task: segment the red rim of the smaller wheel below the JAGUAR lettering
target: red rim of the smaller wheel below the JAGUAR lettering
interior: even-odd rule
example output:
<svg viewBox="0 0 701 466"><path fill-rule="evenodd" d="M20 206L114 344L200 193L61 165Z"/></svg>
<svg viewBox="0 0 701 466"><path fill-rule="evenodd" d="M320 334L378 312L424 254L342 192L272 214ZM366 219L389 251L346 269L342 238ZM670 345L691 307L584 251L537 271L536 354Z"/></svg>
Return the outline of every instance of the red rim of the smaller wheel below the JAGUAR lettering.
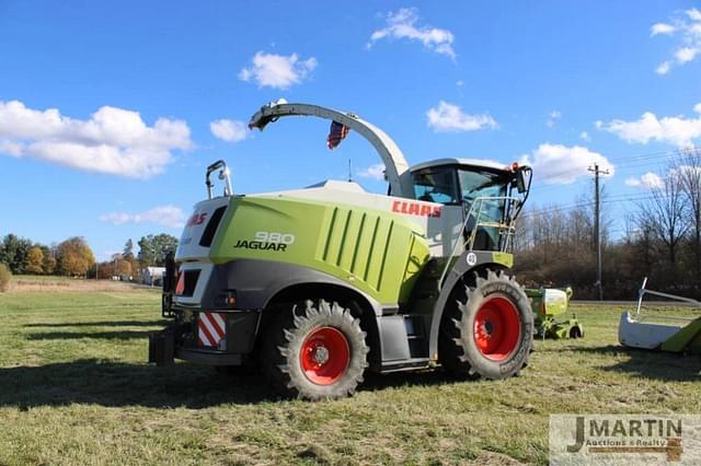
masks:
<svg viewBox="0 0 701 466"><path fill-rule="evenodd" d="M302 342L299 359L307 378L317 385L331 385L350 363L348 340L336 328L317 328Z"/></svg>

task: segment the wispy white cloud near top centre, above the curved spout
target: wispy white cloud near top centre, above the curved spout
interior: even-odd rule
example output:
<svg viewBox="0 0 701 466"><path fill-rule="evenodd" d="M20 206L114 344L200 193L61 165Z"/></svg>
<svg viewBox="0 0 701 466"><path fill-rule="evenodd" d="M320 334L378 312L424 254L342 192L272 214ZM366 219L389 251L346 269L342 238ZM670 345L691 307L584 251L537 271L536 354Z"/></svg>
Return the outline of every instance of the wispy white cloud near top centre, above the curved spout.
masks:
<svg viewBox="0 0 701 466"><path fill-rule="evenodd" d="M416 8L402 8L395 13L387 14L387 24L383 28L375 31L370 36L368 48L383 38L418 40L424 47L436 54L447 55L455 59L452 49L453 34L448 30L430 26L418 26L418 10Z"/></svg>

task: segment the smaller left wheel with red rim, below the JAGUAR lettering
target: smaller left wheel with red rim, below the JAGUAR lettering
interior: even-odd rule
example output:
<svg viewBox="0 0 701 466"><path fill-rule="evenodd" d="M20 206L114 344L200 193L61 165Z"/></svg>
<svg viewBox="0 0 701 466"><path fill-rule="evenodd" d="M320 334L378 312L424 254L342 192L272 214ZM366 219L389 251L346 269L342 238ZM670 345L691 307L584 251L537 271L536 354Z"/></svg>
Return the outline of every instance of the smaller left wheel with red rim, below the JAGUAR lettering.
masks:
<svg viewBox="0 0 701 466"><path fill-rule="evenodd" d="M261 351L261 369L275 391L310 400L353 395L368 365L360 321L321 299L280 311Z"/></svg>

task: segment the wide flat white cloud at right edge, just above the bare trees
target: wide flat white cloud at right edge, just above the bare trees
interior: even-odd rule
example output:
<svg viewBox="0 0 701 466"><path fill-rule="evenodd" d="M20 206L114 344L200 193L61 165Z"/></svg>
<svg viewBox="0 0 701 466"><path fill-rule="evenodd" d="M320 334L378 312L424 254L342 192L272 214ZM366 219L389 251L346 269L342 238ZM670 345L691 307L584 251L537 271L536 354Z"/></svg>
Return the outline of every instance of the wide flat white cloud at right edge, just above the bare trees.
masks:
<svg viewBox="0 0 701 466"><path fill-rule="evenodd" d="M693 109L701 113L701 104L697 104ZM650 141L658 141L683 148L691 145L694 139L701 138L701 116L657 118L654 113L645 112L635 121L621 119L614 119L608 124L599 121L597 128L612 132L628 142L646 144Z"/></svg>

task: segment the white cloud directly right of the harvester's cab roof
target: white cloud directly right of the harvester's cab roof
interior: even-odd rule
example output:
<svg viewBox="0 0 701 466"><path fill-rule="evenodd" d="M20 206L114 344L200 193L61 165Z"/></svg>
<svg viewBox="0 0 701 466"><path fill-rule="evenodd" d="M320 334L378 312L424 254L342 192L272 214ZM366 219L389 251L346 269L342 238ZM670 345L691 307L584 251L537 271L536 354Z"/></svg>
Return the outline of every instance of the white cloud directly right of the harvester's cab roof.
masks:
<svg viewBox="0 0 701 466"><path fill-rule="evenodd" d="M533 175L545 184L571 184L587 175L589 167L599 165L599 170L614 173L613 165L604 155L579 145L543 143L525 154L521 163L533 168Z"/></svg>

